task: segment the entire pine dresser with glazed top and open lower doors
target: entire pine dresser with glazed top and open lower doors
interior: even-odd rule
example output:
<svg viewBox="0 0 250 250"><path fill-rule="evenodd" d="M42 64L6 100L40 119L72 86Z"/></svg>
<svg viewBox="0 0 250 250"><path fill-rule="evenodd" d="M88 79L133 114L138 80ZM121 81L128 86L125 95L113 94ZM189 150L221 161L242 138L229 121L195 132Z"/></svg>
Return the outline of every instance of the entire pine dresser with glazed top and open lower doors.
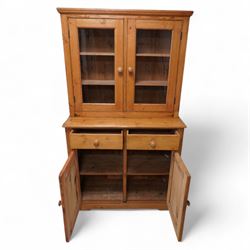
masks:
<svg viewBox="0 0 250 250"><path fill-rule="evenodd" d="M179 118L192 11L58 8L70 116L59 181L66 241L80 210L166 209L182 239L190 174Z"/></svg>

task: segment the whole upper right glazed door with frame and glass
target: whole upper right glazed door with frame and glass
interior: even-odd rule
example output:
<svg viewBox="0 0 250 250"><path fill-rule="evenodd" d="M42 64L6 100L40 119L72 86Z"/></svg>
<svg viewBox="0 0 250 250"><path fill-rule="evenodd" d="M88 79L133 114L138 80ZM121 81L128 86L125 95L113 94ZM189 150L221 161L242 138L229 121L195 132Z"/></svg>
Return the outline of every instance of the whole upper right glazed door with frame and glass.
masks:
<svg viewBox="0 0 250 250"><path fill-rule="evenodd" d="M181 27L178 21L128 21L129 111L173 111Z"/></svg>

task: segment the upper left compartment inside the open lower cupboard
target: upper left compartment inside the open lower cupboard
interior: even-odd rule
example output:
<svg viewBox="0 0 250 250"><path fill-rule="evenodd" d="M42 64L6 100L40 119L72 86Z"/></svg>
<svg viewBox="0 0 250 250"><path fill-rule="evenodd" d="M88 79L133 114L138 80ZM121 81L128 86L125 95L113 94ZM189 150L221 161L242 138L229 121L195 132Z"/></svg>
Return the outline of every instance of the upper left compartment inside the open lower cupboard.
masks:
<svg viewBox="0 0 250 250"><path fill-rule="evenodd" d="M79 151L80 175L122 175L122 152L114 150Z"/></svg>

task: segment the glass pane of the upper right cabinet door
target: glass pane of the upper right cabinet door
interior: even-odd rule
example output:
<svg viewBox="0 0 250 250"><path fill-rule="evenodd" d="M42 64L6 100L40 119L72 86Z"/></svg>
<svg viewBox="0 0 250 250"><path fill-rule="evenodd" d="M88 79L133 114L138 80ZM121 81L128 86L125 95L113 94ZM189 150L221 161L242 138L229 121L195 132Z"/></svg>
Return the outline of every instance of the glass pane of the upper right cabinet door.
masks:
<svg viewBox="0 0 250 250"><path fill-rule="evenodd" d="M137 30L135 103L165 104L171 48L170 30Z"/></svg>

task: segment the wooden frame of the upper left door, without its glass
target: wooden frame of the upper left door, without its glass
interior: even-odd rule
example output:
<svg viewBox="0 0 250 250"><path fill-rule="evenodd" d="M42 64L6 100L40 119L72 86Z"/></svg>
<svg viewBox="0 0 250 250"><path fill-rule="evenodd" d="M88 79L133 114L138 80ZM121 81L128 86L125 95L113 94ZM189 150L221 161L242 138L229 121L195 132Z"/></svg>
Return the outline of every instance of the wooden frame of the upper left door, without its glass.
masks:
<svg viewBox="0 0 250 250"><path fill-rule="evenodd" d="M70 53L72 67L73 92L75 101L75 112L86 111L122 111L123 110L123 75L119 74L118 67L123 65L123 22L121 19L103 19L103 18L70 18L69 33L70 33ZM81 80L81 65L80 65L80 49L78 28L98 28L98 29L114 29L115 39L115 103L83 103L82 97L82 80Z"/></svg>

